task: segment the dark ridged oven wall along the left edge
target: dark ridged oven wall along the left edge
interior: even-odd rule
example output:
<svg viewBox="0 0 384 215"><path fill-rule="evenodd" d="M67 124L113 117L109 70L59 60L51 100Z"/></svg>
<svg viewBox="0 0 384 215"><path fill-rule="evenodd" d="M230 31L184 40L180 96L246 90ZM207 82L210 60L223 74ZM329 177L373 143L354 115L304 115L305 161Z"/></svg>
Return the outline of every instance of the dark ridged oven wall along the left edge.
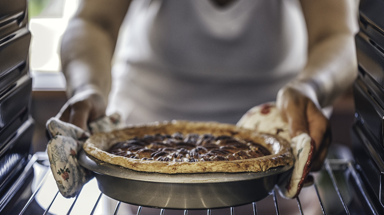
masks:
<svg viewBox="0 0 384 215"><path fill-rule="evenodd" d="M0 214L32 154L32 78L26 0L0 0Z"/></svg>

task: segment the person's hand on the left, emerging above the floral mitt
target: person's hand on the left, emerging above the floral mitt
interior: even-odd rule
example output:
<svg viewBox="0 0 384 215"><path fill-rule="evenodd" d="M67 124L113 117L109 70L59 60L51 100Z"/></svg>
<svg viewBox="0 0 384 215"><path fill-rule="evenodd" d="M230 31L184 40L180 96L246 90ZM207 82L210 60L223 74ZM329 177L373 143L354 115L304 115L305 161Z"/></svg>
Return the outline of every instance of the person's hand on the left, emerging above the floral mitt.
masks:
<svg viewBox="0 0 384 215"><path fill-rule="evenodd" d="M87 124L105 115L106 99L95 89L87 89L70 98L56 115L64 122L87 130Z"/></svg>

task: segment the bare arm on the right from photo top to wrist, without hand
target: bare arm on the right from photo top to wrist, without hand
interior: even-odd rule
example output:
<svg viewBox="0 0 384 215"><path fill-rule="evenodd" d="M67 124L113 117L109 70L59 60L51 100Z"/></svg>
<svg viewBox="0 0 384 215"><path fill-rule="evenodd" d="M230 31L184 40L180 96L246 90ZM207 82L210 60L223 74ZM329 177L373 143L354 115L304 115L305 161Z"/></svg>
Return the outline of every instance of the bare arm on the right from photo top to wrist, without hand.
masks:
<svg viewBox="0 0 384 215"><path fill-rule="evenodd" d="M300 2L308 31L308 59L289 85L325 107L351 86L357 75L356 5L351 0Z"/></svg>

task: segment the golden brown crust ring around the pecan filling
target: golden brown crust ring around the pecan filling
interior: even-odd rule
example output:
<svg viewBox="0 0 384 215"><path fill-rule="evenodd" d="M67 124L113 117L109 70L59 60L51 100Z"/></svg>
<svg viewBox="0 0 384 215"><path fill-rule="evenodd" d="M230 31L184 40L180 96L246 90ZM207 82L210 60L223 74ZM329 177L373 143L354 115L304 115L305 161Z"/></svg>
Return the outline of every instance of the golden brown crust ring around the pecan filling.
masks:
<svg viewBox="0 0 384 215"><path fill-rule="evenodd" d="M147 161L126 158L107 153L113 144L145 134L213 134L230 135L241 139L254 140L267 148L271 155L236 161ZM98 160L120 165L128 169L159 173L201 173L201 172L260 172L272 167L291 165L293 159L289 144L284 139L271 135L259 134L251 130L238 128L231 124L217 122L171 121L130 126L110 133L92 135L83 146L84 150Z"/></svg>

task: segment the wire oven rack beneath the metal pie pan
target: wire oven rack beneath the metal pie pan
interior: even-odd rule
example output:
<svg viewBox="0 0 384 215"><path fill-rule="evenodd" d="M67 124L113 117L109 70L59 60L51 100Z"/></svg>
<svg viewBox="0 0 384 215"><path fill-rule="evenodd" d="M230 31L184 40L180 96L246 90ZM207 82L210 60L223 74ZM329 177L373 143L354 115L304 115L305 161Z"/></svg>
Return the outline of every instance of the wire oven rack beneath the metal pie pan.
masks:
<svg viewBox="0 0 384 215"><path fill-rule="evenodd" d="M66 199L56 187L45 153L36 153L32 156L25 174L28 168L32 168L34 172L31 193L26 198L26 203L20 207L20 211L15 213L19 215L286 215L291 212L299 215L362 215L381 214L383 210L382 207L376 206L375 198L368 194L358 173L358 167L356 168L353 161L346 159L327 159L324 168L312 175L314 183L303 188L295 199L284 199L273 190L260 202L226 209L198 211L131 206L105 196L97 188L96 179L88 182L79 195ZM22 180L19 183L23 183Z"/></svg>

